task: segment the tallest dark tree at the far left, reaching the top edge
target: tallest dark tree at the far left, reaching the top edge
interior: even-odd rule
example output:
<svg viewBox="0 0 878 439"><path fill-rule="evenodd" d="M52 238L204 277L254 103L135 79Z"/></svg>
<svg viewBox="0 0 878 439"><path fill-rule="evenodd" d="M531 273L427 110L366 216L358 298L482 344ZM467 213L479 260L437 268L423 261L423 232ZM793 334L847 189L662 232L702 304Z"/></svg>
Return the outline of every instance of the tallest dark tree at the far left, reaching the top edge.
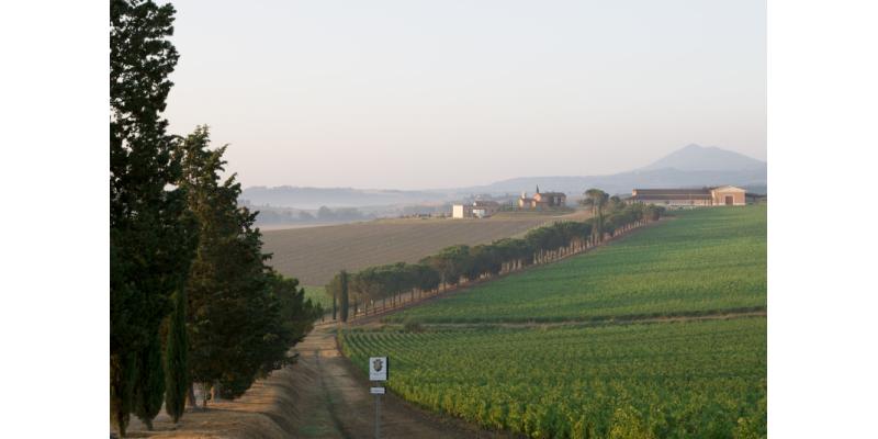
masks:
<svg viewBox="0 0 878 439"><path fill-rule="evenodd" d="M173 13L153 1L110 2L110 419L120 436L135 387L151 381L138 380L137 363L155 358L192 257L182 194L168 190L180 167L161 117L178 59L167 40ZM137 390L151 401L150 391Z"/></svg>

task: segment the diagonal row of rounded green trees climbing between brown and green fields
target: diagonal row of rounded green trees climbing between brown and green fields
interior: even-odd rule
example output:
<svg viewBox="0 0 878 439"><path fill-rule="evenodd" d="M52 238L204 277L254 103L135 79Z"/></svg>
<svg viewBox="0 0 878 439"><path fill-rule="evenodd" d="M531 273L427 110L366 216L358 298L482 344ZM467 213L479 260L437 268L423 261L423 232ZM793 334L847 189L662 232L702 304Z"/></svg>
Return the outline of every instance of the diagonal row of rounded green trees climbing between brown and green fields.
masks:
<svg viewBox="0 0 878 439"><path fill-rule="evenodd" d="M599 189L586 191L582 203L593 211L593 216L582 222L556 222L531 229L522 238L447 247L418 263L396 262L356 273L342 270L326 284L326 293L333 297L333 318L347 322L351 313L368 315L378 312L378 306L386 306L387 301L393 307L404 294L414 300L416 294L431 294L440 289L551 262L664 214L664 207L628 204Z"/></svg>

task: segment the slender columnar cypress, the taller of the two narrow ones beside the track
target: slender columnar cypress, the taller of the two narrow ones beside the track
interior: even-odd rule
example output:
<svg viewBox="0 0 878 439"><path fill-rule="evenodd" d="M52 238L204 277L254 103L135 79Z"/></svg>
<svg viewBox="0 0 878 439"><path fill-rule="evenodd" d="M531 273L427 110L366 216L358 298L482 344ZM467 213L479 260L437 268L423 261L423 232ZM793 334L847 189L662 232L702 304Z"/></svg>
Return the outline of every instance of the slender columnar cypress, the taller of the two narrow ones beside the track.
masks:
<svg viewBox="0 0 878 439"><path fill-rule="evenodd" d="M168 322L168 339L165 347L165 412L176 424L183 416L190 382L185 290L178 290L173 299L173 314Z"/></svg>

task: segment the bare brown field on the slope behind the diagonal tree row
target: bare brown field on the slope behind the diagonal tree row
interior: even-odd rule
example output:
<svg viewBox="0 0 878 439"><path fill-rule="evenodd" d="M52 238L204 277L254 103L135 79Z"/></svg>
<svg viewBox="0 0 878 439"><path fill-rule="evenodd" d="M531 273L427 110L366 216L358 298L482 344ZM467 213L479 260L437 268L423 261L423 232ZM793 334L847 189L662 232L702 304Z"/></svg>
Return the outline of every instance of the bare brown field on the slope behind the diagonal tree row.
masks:
<svg viewBox="0 0 878 439"><path fill-rule="evenodd" d="M304 285L324 285L339 270L358 271L391 262L416 262L444 247L485 244L516 236L567 215L498 214L486 219L381 219L296 229L264 230L269 263Z"/></svg>

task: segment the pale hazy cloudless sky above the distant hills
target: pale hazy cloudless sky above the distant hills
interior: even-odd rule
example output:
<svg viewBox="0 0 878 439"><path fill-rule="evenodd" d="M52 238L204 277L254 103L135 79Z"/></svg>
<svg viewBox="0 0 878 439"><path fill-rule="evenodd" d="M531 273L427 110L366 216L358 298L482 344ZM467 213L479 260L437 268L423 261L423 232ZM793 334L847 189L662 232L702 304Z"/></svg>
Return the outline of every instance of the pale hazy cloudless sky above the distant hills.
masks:
<svg viewBox="0 0 878 439"><path fill-rule="evenodd" d="M766 157L765 1L178 0L167 116L248 185L448 188Z"/></svg>

